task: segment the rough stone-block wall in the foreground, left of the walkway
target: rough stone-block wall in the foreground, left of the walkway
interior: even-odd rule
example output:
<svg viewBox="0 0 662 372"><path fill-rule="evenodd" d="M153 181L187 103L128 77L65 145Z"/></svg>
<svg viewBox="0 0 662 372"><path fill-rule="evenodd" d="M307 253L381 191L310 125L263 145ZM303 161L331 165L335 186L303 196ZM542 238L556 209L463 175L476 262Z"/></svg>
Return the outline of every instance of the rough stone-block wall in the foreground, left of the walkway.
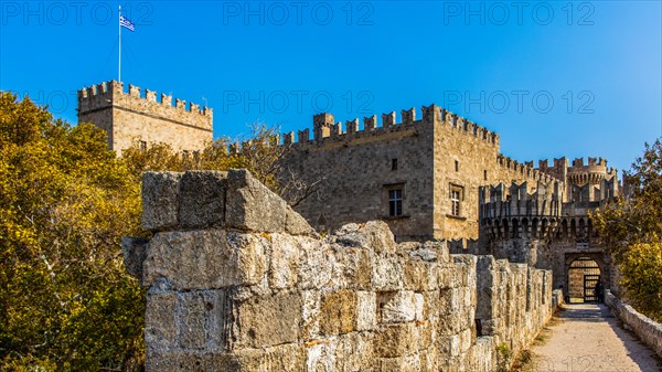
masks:
<svg viewBox="0 0 662 372"><path fill-rule="evenodd" d="M142 188L154 235L122 251L148 288L147 371L491 372L553 311L548 270L396 244L383 222L321 237L243 170Z"/></svg>

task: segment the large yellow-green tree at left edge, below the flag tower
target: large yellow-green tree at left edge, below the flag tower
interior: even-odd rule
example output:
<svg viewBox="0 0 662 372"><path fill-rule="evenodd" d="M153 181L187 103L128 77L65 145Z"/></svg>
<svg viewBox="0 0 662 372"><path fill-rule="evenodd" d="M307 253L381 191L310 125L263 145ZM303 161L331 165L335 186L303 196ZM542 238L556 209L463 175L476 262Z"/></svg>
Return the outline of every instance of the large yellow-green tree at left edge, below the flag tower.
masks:
<svg viewBox="0 0 662 372"><path fill-rule="evenodd" d="M139 184L92 125L0 92L0 363L136 370L145 294L119 242L139 231Z"/></svg>

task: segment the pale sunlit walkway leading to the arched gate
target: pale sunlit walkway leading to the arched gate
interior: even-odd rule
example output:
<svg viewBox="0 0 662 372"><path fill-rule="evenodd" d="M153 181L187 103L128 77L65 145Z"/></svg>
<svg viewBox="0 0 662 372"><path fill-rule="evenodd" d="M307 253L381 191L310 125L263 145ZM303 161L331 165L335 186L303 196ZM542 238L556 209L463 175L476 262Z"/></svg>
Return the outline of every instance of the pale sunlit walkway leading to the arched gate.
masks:
<svg viewBox="0 0 662 372"><path fill-rule="evenodd" d="M660 372L662 361L605 305L566 305L532 347L535 372Z"/></svg>

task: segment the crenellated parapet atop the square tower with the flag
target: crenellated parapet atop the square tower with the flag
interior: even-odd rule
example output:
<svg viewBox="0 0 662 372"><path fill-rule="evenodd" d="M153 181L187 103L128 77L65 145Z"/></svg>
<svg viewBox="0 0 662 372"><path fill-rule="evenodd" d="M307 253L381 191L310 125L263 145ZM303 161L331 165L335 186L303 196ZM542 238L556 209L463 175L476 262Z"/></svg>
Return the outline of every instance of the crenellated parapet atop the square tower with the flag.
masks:
<svg viewBox="0 0 662 372"><path fill-rule="evenodd" d="M78 91L78 115L89 114L109 107L124 108L138 114L150 114L172 119L204 129L212 129L213 110L206 106L175 98L172 106L172 96L161 94L157 99L157 92L145 89L129 84L125 92L124 83L117 81L104 82Z"/></svg>

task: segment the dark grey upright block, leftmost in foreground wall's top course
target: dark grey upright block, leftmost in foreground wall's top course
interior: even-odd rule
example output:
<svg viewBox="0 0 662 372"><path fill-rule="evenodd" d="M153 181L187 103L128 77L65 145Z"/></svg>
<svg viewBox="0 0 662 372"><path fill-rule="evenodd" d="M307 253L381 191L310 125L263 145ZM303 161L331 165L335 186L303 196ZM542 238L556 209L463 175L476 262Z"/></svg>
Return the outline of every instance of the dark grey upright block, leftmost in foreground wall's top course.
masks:
<svg viewBox="0 0 662 372"><path fill-rule="evenodd" d="M183 173L142 173L142 228L168 231L179 226L179 183Z"/></svg>

